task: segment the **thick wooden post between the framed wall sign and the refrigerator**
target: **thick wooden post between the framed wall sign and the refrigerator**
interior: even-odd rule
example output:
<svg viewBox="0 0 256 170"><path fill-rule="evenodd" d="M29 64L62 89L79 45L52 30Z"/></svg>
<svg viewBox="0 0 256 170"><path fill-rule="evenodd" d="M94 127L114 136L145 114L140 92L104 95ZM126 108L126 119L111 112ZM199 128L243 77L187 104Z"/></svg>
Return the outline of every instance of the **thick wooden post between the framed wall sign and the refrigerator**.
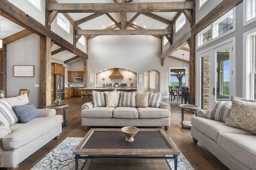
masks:
<svg viewBox="0 0 256 170"><path fill-rule="evenodd" d="M39 108L51 104L51 39L40 36L40 88Z"/></svg>

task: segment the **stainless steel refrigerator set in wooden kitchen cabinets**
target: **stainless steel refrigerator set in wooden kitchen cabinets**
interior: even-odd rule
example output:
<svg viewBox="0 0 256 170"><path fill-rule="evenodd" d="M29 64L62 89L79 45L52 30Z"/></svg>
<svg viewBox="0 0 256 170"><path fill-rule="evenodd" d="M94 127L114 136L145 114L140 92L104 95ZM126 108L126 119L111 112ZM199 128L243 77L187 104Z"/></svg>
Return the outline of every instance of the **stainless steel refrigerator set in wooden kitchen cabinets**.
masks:
<svg viewBox="0 0 256 170"><path fill-rule="evenodd" d="M65 98L65 83L64 83L64 76L62 75L57 75L54 74L54 79L53 79L53 97L54 100L58 98L61 98L62 100L64 100Z"/></svg>

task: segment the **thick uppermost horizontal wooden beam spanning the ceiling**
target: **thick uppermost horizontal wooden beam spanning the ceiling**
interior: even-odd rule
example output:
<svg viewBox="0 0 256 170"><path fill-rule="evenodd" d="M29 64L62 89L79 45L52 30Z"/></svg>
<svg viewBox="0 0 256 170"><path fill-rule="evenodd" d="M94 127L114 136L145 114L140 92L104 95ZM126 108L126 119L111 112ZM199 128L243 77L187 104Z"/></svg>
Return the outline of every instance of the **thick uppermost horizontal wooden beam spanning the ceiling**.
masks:
<svg viewBox="0 0 256 170"><path fill-rule="evenodd" d="M49 3L47 10L60 13L97 12L178 12L193 10L194 2L139 2L139 3Z"/></svg>

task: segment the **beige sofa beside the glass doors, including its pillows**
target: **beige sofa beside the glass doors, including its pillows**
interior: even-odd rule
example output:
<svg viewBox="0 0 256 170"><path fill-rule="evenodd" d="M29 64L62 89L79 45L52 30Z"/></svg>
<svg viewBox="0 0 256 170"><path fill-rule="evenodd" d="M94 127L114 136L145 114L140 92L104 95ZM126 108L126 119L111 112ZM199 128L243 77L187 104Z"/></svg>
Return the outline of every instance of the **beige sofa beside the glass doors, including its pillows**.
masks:
<svg viewBox="0 0 256 170"><path fill-rule="evenodd" d="M231 170L256 170L256 104L250 103L256 101L235 96L231 101L198 111L191 135Z"/></svg>

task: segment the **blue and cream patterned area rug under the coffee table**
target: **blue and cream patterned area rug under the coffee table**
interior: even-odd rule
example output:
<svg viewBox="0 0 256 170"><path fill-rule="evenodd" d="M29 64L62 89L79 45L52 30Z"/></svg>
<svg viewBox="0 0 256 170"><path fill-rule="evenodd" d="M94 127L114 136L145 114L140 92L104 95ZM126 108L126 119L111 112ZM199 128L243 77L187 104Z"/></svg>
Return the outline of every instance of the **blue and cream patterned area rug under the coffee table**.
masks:
<svg viewBox="0 0 256 170"><path fill-rule="evenodd" d="M31 170L75 169L75 155L73 154L73 150L82 139L82 137L67 137L56 148L48 153L42 160L40 160ZM79 170L81 170L85 160L78 161L78 168ZM174 170L174 160L168 160L168 162L171 168ZM194 170L194 168L192 168L188 160L181 152L180 155L178 155L178 170Z"/></svg>

